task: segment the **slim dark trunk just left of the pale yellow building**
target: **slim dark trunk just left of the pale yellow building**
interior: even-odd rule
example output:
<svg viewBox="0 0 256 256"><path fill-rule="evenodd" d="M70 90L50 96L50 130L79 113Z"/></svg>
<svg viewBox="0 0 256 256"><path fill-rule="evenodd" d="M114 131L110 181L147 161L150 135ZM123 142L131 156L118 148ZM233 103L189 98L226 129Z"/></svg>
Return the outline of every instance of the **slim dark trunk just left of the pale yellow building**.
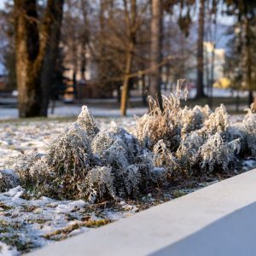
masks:
<svg viewBox="0 0 256 256"><path fill-rule="evenodd" d="M205 17L205 1L200 0L200 11L198 21L198 39L197 39L197 92L196 97L201 98L205 96L204 93L204 17Z"/></svg>

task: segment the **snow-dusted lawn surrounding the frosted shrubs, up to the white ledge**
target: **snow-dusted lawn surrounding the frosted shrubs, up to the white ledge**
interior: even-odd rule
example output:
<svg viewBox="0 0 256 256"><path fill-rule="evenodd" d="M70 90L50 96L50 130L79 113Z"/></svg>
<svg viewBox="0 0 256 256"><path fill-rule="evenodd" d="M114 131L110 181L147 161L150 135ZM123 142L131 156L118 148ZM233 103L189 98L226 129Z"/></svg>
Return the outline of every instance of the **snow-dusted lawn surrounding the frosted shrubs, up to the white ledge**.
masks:
<svg viewBox="0 0 256 256"><path fill-rule="evenodd" d="M243 117L233 116L232 122ZM106 128L114 120L117 125L129 131L136 120L128 118L98 118L97 125ZM14 175L10 170L19 154L44 150L52 140L65 130L74 119L32 119L0 122L0 170L5 175ZM256 161L245 160L243 171L253 169ZM0 172L0 175L2 175ZM1 176L0 176L1 178ZM0 194L0 254L17 255L59 241L79 232L87 232L102 224L125 218L140 210L164 201L172 200L189 192L218 182L219 178L189 180L183 185L161 189L148 188L136 200L104 201L89 204L79 201L57 201L48 197L33 198L25 189L15 189Z"/></svg>

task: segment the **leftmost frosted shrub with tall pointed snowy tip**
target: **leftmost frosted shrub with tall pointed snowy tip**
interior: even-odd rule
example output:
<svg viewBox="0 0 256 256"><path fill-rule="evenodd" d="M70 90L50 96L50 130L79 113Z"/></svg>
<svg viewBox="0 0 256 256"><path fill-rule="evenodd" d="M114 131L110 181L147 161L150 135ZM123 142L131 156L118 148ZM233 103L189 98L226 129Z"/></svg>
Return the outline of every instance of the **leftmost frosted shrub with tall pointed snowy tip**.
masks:
<svg viewBox="0 0 256 256"><path fill-rule="evenodd" d="M46 154L20 156L15 165L20 182L41 195L79 197L87 173L101 164L90 146L98 131L89 110L83 108L77 122L49 145Z"/></svg>

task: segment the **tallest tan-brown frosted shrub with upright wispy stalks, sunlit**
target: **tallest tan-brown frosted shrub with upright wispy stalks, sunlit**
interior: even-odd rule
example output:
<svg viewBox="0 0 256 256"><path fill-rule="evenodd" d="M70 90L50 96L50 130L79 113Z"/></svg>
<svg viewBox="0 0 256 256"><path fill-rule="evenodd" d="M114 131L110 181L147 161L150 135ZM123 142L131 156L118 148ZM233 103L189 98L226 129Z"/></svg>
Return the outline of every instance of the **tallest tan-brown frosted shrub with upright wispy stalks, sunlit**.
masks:
<svg viewBox="0 0 256 256"><path fill-rule="evenodd" d="M186 99L187 94L182 94L179 88L180 85L177 86L175 94L171 93L168 97L163 96L163 111L161 111L158 103L152 97L149 97L151 112L137 119L135 134L139 141L148 148L153 148L155 143L163 140L167 148L176 151L183 135L201 129L207 122L211 113L209 107L195 106L191 109L186 106L182 108L180 99ZM218 119L221 110L218 111L217 109L216 113L211 114L211 119ZM218 126L218 124L216 125Z"/></svg>

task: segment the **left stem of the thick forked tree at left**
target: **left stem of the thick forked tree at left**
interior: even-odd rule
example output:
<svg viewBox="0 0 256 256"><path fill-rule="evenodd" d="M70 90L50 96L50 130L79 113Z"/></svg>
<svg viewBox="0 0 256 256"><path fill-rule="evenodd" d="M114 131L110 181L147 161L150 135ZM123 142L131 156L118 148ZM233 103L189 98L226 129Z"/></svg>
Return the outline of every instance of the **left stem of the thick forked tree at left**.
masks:
<svg viewBox="0 0 256 256"><path fill-rule="evenodd" d="M20 117L40 114L40 68L34 63L39 53L36 1L15 0L16 75Z"/></svg>

